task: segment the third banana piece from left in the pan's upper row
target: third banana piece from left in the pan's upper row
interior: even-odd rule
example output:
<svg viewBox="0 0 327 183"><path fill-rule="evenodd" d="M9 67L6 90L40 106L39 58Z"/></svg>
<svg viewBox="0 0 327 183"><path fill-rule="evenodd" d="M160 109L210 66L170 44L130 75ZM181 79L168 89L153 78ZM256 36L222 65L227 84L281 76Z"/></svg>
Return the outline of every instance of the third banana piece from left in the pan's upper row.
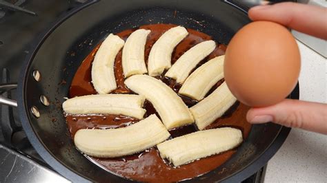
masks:
<svg viewBox="0 0 327 183"><path fill-rule="evenodd" d="M155 42L148 58L150 76L159 76L164 69L171 67L172 51L176 45L188 35L186 28L177 26L171 28Z"/></svg>

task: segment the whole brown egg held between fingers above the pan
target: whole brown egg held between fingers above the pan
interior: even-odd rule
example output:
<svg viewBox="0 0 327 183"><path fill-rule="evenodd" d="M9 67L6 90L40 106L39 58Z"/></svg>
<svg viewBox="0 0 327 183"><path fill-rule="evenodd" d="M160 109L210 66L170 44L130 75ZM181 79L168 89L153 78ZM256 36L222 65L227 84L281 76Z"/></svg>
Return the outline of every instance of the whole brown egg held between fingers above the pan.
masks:
<svg viewBox="0 0 327 183"><path fill-rule="evenodd" d="M299 48L282 25L255 21L230 41L224 74L232 94L251 107L274 105L297 84L301 67Z"/></svg>

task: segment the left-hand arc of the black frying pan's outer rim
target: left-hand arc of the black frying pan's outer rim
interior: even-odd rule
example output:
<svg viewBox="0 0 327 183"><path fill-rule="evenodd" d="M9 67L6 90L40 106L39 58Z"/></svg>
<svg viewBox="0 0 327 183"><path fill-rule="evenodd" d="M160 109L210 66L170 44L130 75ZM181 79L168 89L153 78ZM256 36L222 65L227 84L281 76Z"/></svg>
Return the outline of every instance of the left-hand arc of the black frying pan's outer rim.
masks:
<svg viewBox="0 0 327 183"><path fill-rule="evenodd" d="M39 51L39 48L41 45L43 45L44 41L50 36L50 34L61 25L66 19L69 19L72 17L72 15L76 14L80 10L83 10L84 8L92 5L93 3L97 3L99 0L89 0L86 3L83 3L81 6L78 6L76 8L73 8L66 14L62 14L58 19L56 19L53 23L50 23L49 27L44 30L39 36L32 42L30 49L32 52L30 52L23 62L23 67L21 68L20 74L19 74L19 81L18 81L18 87L17 87L17 103L18 103L18 111L19 111L19 118L21 119L21 124L23 126L24 131L26 131L26 136L28 137L28 140L30 140L32 146L34 149L39 153L41 158L45 160L48 164L51 164L50 166L55 171L59 172L63 177L66 177L72 182L90 182L90 180L86 179L84 175L81 175L80 173L74 171L73 169L70 169L70 167L65 166L60 163L60 161L52 154L50 151L48 151L48 148L46 148L46 145L39 140L39 136L37 135L36 131L34 131L34 128L30 124L30 116L28 114L28 106L25 102L26 98L26 83L29 76L28 70L31 66L31 61L34 59L34 56ZM77 176L79 175L79 176ZM69 178L68 178L69 177Z"/></svg>

